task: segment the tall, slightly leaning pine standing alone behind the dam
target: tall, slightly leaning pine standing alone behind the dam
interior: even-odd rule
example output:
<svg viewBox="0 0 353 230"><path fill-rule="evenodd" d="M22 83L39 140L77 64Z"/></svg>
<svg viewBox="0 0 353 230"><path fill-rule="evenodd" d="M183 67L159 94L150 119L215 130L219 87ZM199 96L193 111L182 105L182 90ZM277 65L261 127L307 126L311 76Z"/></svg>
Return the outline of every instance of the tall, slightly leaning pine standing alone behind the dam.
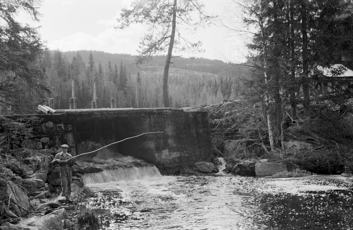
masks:
<svg viewBox="0 0 353 230"><path fill-rule="evenodd" d="M124 29L133 23L146 23L148 32L140 42L139 56L136 63L149 60L153 54L168 50L163 72L163 103L169 107L168 73L173 48L183 51L187 49L200 52L201 41L192 43L181 35L182 30L195 31L204 23L209 23L214 16L207 16L203 4L198 0L136 0L131 9L124 8L117 19L115 29ZM198 18L193 19L192 12L197 12ZM196 22L195 22L196 20ZM177 34L177 36L175 36Z"/></svg>

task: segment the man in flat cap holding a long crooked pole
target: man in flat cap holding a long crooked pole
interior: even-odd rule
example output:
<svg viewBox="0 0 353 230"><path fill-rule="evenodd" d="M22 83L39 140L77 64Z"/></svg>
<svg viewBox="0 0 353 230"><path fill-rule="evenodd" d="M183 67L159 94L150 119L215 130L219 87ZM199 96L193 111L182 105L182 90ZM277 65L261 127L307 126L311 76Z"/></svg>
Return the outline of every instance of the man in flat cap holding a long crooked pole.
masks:
<svg viewBox="0 0 353 230"><path fill-rule="evenodd" d="M62 151L56 153L52 165L60 165L62 196L65 196L66 201L71 203L72 166L76 161L76 156L72 157L70 153L67 153L68 148L68 145L61 145Z"/></svg>

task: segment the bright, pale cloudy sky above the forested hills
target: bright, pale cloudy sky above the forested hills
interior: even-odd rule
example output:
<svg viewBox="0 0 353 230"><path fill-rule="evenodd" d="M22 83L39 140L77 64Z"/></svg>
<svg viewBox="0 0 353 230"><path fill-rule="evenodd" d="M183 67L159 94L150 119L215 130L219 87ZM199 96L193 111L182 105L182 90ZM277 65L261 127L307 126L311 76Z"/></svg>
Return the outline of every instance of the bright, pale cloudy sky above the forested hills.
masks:
<svg viewBox="0 0 353 230"><path fill-rule="evenodd" d="M44 0L40 7L41 22L33 23L20 16L20 22L41 26L40 34L49 49L99 50L108 53L137 54L140 38L145 33L141 24L134 24L124 30L115 30L120 10L130 7L132 0ZM233 17L232 0L201 0L207 14L219 16L227 22ZM234 17L233 17L234 18ZM236 20L236 19L234 19ZM234 23L231 23L234 25ZM185 34L184 34L185 36ZM199 28L195 34L188 34L190 41L202 41L204 53L183 54L223 61L245 61L247 54L240 37L229 29L211 25ZM175 54L174 54L175 55Z"/></svg>

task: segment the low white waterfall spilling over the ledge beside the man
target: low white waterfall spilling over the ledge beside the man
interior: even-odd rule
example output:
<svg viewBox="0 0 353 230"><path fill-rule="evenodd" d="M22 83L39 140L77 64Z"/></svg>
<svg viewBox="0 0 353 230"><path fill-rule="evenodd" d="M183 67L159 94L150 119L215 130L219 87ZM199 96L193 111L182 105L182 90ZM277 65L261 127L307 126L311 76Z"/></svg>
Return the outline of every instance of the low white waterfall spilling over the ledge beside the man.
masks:
<svg viewBox="0 0 353 230"><path fill-rule="evenodd" d="M160 177L159 170L154 166L128 167L103 170L101 172L87 173L82 176L85 184L107 183L114 181L132 181L145 177Z"/></svg>

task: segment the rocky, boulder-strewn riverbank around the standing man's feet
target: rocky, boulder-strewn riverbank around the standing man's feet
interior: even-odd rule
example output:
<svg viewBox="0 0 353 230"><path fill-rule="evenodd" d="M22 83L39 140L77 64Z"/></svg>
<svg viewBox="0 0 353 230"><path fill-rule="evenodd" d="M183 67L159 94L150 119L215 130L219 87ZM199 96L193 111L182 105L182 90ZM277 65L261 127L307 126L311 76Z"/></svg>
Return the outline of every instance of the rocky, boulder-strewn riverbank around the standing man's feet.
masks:
<svg viewBox="0 0 353 230"><path fill-rule="evenodd" d="M78 174L72 183L73 203L60 196L60 174L52 167L54 155L32 149L9 150L2 154L0 173L0 229L99 229L99 221L87 207L93 192ZM16 174L11 174L9 169ZM75 172L79 171L76 167ZM7 179L7 180L4 180Z"/></svg>

